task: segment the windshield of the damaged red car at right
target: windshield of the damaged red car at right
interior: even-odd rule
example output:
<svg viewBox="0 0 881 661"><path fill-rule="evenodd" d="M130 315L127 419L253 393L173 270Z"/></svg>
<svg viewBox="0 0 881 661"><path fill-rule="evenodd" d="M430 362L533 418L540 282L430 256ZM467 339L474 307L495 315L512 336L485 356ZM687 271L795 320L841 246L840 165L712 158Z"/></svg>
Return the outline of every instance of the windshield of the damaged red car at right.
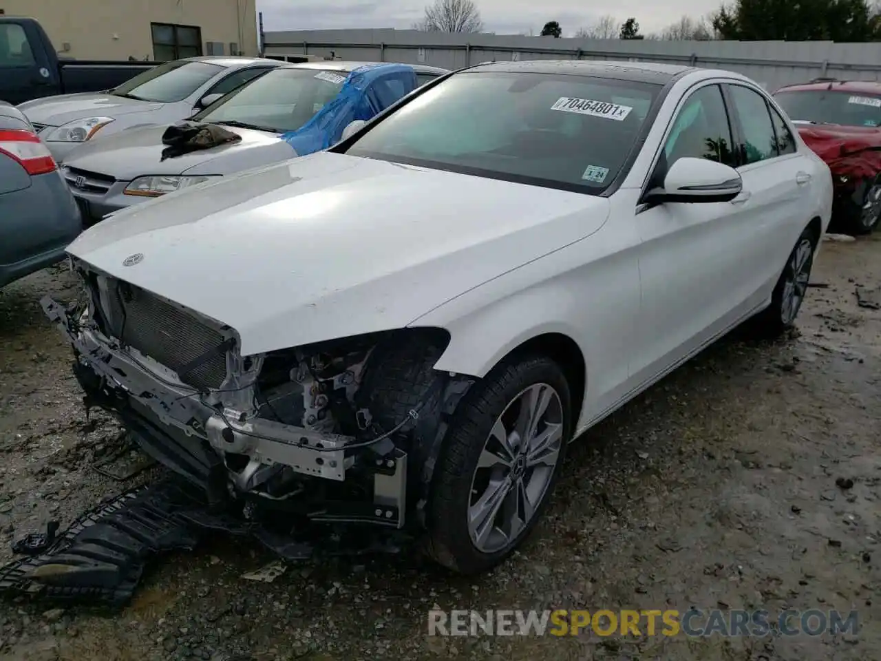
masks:
<svg viewBox="0 0 881 661"><path fill-rule="evenodd" d="M881 97L833 90L778 92L774 100L794 120L846 126L881 125Z"/></svg>

